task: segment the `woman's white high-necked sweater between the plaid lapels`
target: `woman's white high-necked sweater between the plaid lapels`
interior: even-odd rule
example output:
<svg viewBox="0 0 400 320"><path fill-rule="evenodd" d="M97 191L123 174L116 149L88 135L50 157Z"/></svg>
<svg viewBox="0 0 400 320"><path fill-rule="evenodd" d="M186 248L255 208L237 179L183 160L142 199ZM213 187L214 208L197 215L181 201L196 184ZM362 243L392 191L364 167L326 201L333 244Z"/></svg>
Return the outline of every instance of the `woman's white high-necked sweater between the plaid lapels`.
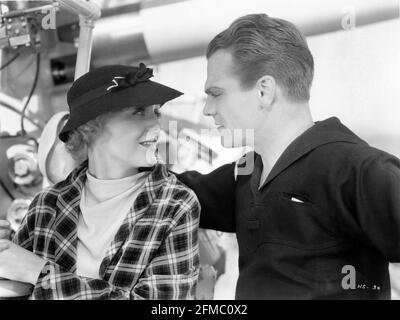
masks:
<svg viewBox="0 0 400 320"><path fill-rule="evenodd" d="M148 174L102 180L86 173L78 223L78 275L100 279L100 264Z"/></svg>

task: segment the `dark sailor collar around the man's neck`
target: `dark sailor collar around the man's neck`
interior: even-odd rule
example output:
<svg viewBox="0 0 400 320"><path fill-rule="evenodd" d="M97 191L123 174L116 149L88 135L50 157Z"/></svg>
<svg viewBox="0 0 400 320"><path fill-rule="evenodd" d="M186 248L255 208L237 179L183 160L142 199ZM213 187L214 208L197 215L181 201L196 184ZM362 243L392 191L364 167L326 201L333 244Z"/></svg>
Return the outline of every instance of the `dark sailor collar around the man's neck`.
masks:
<svg viewBox="0 0 400 320"><path fill-rule="evenodd" d="M314 149L335 142L345 142L353 144L366 144L350 129L344 126L336 117L331 117L315 124L293 140L285 151L281 154L262 187L270 183L282 171L290 167L296 160L303 157ZM256 156L253 171L253 188L258 190L259 179L262 172L262 160ZM257 181L256 181L257 180Z"/></svg>

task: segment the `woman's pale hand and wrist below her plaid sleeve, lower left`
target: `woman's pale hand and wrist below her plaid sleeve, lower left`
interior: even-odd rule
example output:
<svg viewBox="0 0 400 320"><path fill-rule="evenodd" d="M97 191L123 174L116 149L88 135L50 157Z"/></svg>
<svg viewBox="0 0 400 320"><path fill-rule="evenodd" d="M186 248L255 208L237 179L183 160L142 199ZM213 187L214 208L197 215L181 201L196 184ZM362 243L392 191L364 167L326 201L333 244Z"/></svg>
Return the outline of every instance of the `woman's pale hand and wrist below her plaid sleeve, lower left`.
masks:
<svg viewBox="0 0 400 320"><path fill-rule="evenodd" d="M46 260L12 243L0 240L0 277L36 284Z"/></svg>

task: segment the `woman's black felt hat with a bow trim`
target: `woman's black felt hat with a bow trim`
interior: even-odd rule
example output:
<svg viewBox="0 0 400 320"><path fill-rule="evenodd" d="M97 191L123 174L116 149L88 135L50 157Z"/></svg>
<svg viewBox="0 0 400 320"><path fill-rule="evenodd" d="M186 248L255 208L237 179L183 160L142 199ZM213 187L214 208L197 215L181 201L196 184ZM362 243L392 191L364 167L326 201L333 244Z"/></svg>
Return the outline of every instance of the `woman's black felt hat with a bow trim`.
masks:
<svg viewBox="0 0 400 320"><path fill-rule="evenodd" d="M63 142L69 133L97 116L127 107L164 104L182 95L175 89L151 81L153 70L111 65L90 71L78 78L68 90L69 119L59 134Z"/></svg>

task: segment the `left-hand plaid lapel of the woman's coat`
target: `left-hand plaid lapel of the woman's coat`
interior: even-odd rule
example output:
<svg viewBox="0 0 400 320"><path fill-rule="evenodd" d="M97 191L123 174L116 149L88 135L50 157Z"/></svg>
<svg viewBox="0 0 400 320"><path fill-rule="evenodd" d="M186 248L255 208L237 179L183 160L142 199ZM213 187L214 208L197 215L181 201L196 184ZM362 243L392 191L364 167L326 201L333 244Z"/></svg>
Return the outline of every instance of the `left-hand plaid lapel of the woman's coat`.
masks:
<svg viewBox="0 0 400 320"><path fill-rule="evenodd" d="M55 262L68 272L76 271L77 226L80 215L81 191L86 179L87 163L69 176L70 183L57 198L58 214L54 225Z"/></svg>

